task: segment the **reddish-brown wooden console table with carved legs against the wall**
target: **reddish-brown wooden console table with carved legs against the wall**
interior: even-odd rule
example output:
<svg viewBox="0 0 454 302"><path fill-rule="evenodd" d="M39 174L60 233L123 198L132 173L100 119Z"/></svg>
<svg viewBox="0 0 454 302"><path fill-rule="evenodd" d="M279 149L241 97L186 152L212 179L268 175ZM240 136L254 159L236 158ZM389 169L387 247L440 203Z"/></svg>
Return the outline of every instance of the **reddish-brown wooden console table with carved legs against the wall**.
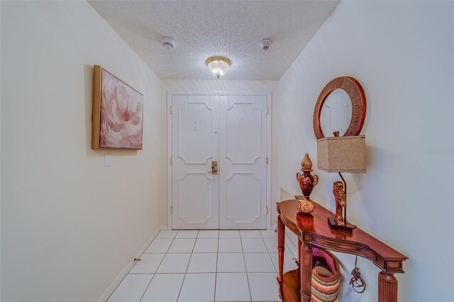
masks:
<svg viewBox="0 0 454 302"><path fill-rule="evenodd" d="M299 196L297 196L299 197ZM279 292L282 301L311 301L312 247L358 255L381 269L378 274L378 301L397 302L397 279L404 273L405 255L380 240L355 228L353 233L332 230L328 217L333 213L316 204L311 215L297 211L297 199L277 203L277 250L279 257ZM285 227L298 236L298 269L283 274Z"/></svg>

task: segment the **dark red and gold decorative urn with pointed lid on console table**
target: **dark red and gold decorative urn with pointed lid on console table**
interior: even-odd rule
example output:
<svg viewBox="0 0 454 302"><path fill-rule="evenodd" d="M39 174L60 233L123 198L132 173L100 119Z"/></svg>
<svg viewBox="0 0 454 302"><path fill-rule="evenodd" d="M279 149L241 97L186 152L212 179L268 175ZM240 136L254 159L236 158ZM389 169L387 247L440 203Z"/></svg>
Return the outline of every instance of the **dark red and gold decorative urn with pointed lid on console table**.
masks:
<svg viewBox="0 0 454 302"><path fill-rule="evenodd" d="M319 177L312 175L312 171L312 161L306 153L301 161L301 172L303 173L297 173L297 181L304 196L303 199L297 201L297 209L301 213L311 213L315 209L315 204L309 196L311 196L314 186L319 183Z"/></svg>

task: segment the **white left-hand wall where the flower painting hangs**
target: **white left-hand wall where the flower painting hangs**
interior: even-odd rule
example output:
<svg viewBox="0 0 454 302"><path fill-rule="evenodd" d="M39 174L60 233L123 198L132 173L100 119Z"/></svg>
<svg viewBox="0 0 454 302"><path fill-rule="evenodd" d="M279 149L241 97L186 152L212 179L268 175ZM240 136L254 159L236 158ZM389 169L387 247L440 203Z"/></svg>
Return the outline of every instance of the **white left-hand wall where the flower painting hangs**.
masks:
<svg viewBox="0 0 454 302"><path fill-rule="evenodd" d="M92 65L144 95L143 150L91 150ZM96 301L165 223L159 79L85 1L1 1L1 301Z"/></svg>

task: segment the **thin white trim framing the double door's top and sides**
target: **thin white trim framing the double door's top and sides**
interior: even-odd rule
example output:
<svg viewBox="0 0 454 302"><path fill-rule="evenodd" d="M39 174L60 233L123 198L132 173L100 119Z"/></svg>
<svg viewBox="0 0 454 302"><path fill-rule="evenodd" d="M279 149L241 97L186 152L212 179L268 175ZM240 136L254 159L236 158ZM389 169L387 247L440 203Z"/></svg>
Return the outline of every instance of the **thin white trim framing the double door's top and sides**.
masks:
<svg viewBox="0 0 454 302"><path fill-rule="evenodd" d="M271 91L167 91L167 227L172 230L172 96L191 95L191 96L267 96L267 197L266 214L267 230L271 230L271 114L272 114L272 92Z"/></svg>

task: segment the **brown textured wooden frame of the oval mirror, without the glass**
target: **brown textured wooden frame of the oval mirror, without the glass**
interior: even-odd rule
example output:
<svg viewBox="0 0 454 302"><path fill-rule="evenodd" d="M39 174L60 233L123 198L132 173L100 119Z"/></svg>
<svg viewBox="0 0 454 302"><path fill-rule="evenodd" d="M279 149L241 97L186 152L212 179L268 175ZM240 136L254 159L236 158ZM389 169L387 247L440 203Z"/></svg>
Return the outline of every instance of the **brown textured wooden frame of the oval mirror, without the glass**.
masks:
<svg viewBox="0 0 454 302"><path fill-rule="evenodd" d="M353 79L353 77L336 77L332 79L326 86L322 89L319 99L315 104L314 109L314 133L317 140L324 138L323 131L321 130L320 123L320 114L323 103L325 103L326 98L331 94L331 92L336 89L343 89L348 96L350 96L350 101L352 102L352 118L350 120L350 125L345 131L343 136L356 136L359 135L364 124L366 117L366 97L360 83Z"/></svg>

